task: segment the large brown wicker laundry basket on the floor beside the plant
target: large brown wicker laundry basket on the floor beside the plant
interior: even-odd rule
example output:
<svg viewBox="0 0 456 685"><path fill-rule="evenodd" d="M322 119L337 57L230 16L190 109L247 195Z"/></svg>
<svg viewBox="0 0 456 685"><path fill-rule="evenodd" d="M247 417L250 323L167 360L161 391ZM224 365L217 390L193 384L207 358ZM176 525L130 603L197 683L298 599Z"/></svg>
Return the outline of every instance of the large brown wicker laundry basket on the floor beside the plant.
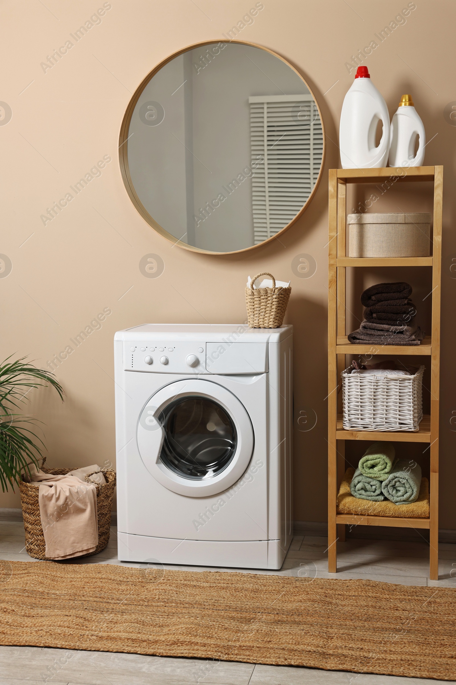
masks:
<svg viewBox="0 0 456 685"><path fill-rule="evenodd" d="M45 469L45 460L46 458L43 459L43 465L41 466L41 470L44 471L44 473L66 475L77 468L77 466L74 466L73 469ZM100 485L94 483L94 486L96 486L96 510L98 515L98 545L96 545L95 551L88 554L81 554L81 557L92 556L92 554L96 554L102 549L105 549L107 543L109 543L109 533L111 532L111 508L114 488L116 487L116 471L104 471L101 469L101 472L105 476L106 484ZM86 481L88 481L88 477L88 475L85 476ZM24 517L25 549L27 550L27 554L35 559L52 561L46 557L46 543L44 542L44 534L40 519L40 504L38 502L39 490L39 483L26 483L25 481L19 483L22 513ZM81 557L78 557L78 559Z"/></svg>

